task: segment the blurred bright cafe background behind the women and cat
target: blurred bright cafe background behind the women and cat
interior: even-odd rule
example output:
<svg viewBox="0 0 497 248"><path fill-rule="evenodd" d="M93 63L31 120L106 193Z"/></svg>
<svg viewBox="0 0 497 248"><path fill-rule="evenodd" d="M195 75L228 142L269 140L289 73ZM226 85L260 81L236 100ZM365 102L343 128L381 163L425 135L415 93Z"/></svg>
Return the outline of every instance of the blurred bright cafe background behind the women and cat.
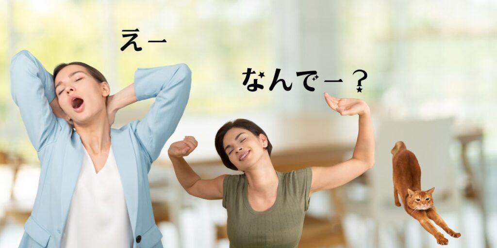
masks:
<svg viewBox="0 0 497 248"><path fill-rule="evenodd" d="M352 182L311 196L302 248L427 248L436 240L392 197L391 148L416 155L423 189L445 222L448 247L497 247L497 2L493 0L3 0L0 3L0 247L17 247L40 172L10 96L12 56L26 49L48 71L82 61L112 94L137 67L186 63L192 70L183 118L149 174L154 214L167 248L227 248L221 200L188 195L167 157L192 135L186 160L203 178L237 174L223 166L214 135L249 119L273 144L278 171L333 166L351 157L358 117L340 116L323 93L361 98L371 108L375 166ZM133 46L122 30L139 29ZM163 40L166 43L150 43ZM243 85L247 68L264 86ZM272 78L292 83L290 91ZM362 73L362 92L357 92ZM316 70L305 89L297 71ZM343 82L324 82L342 79ZM113 128L145 116L154 99L117 113Z"/></svg>

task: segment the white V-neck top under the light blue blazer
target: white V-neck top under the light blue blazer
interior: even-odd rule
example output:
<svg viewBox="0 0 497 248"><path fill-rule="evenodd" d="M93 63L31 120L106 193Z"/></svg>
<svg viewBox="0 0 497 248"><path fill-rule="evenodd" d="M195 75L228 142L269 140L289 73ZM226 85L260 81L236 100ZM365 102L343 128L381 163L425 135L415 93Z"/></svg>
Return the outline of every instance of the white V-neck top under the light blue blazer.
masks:
<svg viewBox="0 0 497 248"><path fill-rule="evenodd" d="M133 232L112 147L98 173L84 146L83 150L83 165L61 247L133 247Z"/></svg>

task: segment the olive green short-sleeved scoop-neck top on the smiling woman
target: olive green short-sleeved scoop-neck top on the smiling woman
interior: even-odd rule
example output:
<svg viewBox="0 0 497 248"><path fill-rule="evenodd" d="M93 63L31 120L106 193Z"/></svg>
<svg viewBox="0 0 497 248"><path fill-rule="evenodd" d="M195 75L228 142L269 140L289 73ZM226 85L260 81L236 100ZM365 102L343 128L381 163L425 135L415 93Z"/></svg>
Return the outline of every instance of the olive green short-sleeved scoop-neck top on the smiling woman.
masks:
<svg viewBox="0 0 497 248"><path fill-rule="evenodd" d="M223 207L228 211L230 248L296 248L309 208L311 168L278 174L278 193L266 211L255 211L247 197L247 177L226 176Z"/></svg>

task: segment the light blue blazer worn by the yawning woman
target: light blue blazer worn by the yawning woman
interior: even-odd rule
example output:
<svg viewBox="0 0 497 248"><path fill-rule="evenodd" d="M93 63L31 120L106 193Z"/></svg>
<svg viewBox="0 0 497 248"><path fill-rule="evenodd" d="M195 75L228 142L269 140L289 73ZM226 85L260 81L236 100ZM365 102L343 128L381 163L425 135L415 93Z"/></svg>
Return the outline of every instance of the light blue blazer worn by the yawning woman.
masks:
<svg viewBox="0 0 497 248"><path fill-rule="evenodd" d="M53 114L49 105L55 98L53 75L28 51L12 58L10 82L12 99L41 164L33 211L19 247L60 247L83 162L83 144L78 132ZM134 74L136 98L155 97L155 102L141 121L110 128L134 248L163 247L147 175L183 115L190 86L191 71L186 64L138 68Z"/></svg>

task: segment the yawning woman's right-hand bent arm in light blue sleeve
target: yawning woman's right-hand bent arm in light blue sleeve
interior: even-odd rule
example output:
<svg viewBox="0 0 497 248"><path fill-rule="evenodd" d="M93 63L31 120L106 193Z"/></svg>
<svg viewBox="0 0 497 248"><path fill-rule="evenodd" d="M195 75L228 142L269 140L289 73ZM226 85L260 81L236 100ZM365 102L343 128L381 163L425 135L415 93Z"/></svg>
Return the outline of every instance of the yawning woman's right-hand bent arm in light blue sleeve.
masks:
<svg viewBox="0 0 497 248"><path fill-rule="evenodd" d="M164 144L176 129L186 108L191 87L191 70L184 64L174 64L150 68L138 68L134 83L116 94L113 102L118 107L130 102L155 97L147 115L132 127L152 164L161 153Z"/></svg>

